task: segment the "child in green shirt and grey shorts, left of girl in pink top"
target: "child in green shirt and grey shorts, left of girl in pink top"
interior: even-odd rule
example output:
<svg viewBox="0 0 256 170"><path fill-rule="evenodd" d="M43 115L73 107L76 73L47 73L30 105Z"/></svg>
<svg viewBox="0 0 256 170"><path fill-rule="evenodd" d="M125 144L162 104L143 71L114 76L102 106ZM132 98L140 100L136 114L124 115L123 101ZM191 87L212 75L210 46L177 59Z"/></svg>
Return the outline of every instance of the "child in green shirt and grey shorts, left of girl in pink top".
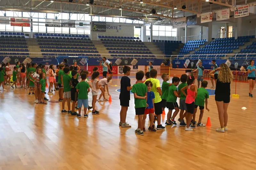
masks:
<svg viewBox="0 0 256 170"><path fill-rule="evenodd" d="M187 124L184 121L184 117L187 115L187 106L185 103L186 96L180 91L183 87L187 85L187 74L182 74L180 77L181 84L178 86L178 94L180 95L180 118L178 121L180 122L180 126L186 126ZM185 90L185 93L187 93L187 90ZM184 113L185 111L185 113ZM184 114L183 114L184 113Z"/></svg>

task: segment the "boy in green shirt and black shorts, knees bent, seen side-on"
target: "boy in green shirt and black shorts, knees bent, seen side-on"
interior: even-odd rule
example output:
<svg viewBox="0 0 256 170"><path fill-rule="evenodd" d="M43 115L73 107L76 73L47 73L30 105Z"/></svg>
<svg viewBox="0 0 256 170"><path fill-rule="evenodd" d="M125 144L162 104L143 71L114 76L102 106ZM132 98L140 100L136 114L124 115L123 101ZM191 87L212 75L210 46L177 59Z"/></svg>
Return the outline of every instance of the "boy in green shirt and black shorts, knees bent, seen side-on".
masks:
<svg viewBox="0 0 256 170"><path fill-rule="evenodd" d="M180 83L180 78L178 77L173 77L172 78L172 85L169 87L169 92L168 92L168 97L167 97L167 102L166 102L166 107L169 109L168 114L167 114L167 120L165 122L166 125L171 125L177 124L174 121L174 118L176 115L179 113L179 105L177 103L177 97L180 97L178 94L177 90L177 85ZM175 109L173 115L172 115L172 110Z"/></svg>

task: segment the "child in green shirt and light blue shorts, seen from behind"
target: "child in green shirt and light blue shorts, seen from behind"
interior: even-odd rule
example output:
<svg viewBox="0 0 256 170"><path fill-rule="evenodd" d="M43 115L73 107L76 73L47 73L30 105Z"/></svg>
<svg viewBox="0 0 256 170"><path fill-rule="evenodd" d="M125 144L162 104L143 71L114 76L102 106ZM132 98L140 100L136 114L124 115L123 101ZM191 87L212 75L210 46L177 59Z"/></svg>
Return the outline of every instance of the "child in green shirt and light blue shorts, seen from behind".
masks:
<svg viewBox="0 0 256 170"><path fill-rule="evenodd" d="M81 73L81 82L76 85L76 92L78 92L78 115L77 117L81 117L81 109L82 105L84 105L84 117L88 117L87 115L87 107L88 104L88 93L90 92L90 86L87 82L85 82L87 75L86 73Z"/></svg>

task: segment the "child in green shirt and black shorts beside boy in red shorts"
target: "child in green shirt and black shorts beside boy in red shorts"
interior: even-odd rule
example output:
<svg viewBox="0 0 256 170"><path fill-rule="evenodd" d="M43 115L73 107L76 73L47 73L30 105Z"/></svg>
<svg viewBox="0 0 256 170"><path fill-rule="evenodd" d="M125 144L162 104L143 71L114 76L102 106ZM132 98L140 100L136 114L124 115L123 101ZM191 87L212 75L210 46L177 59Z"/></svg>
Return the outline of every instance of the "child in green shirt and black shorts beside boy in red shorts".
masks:
<svg viewBox="0 0 256 170"><path fill-rule="evenodd" d="M132 92L134 94L135 114L138 115L138 128L135 130L138 135L144 135L143 133L143 115L147 107L147 95L148 88L142 82L144 77L143 71L136 73L137 83L132 86Z"/></svg>

